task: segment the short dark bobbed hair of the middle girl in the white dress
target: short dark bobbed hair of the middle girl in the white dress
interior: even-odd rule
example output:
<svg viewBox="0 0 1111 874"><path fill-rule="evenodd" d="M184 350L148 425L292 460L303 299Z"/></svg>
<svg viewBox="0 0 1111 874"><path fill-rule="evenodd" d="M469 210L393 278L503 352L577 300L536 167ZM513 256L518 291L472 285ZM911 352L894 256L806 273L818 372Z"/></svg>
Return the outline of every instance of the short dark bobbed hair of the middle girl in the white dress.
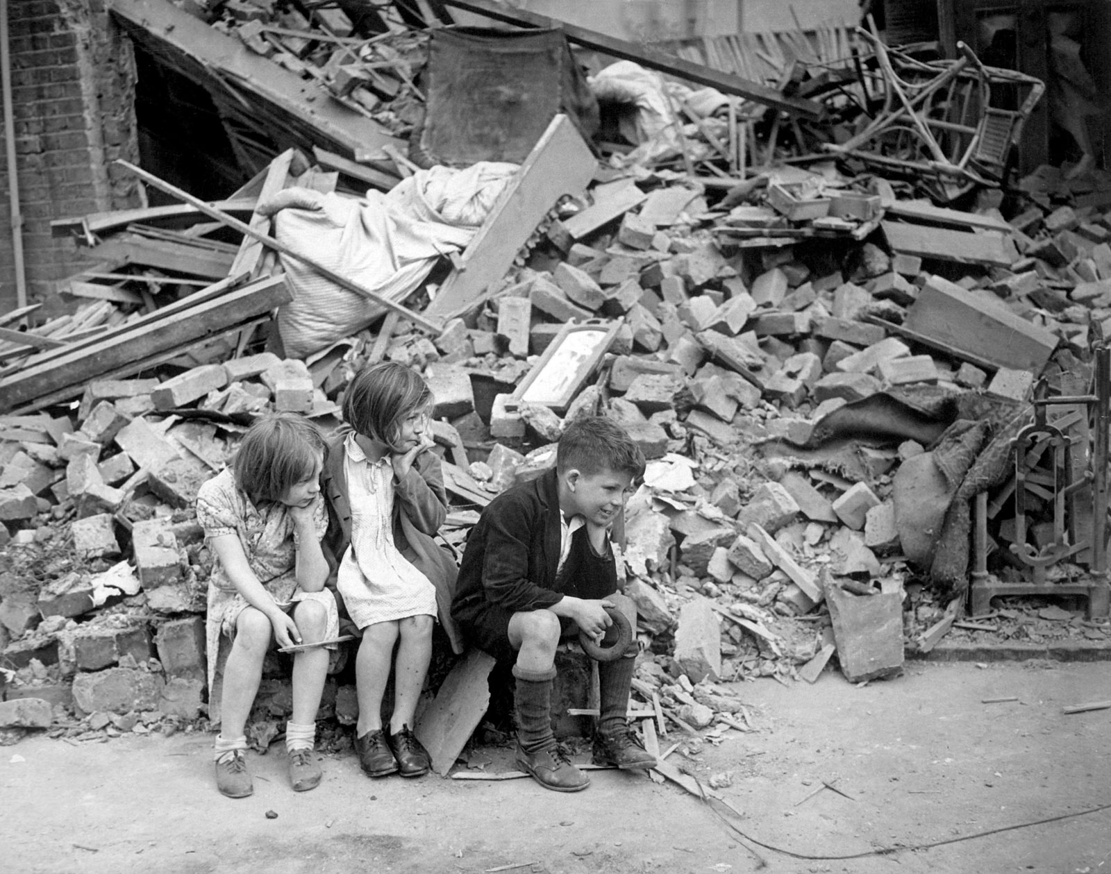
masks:
<svg viewBox="0 0 1111 874"><path fill-rule="evenodd" d="M406 416L431 403L432 392L417 371L382 361L363 368L351 380L343 395L343 418L358 433L392 449Z"/></svg>

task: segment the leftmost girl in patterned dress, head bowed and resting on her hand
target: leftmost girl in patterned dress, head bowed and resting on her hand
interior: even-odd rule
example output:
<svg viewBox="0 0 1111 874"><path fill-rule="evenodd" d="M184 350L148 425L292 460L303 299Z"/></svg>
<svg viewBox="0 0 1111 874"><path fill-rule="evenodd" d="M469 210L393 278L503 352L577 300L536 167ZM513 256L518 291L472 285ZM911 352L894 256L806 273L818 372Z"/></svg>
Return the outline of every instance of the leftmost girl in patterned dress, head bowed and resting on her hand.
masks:
<svg viewBox="0 0 1111 874"><path fill-rule="evenodd" d="M320 541L328 512L320 494L326 445L319 429L294 413L253 424L231 466L197 493L197 519L216 564L209 580L207 637L210 701L220 644L230 639L216 739L217 788L232 798L253 791L243 751L244 726L274 645L339 634L334 595L324 589L328 562ZM317 709L328 673L323 646L293 656L293 714L286 725L293 790L320 783L313 755Z"/></svg>

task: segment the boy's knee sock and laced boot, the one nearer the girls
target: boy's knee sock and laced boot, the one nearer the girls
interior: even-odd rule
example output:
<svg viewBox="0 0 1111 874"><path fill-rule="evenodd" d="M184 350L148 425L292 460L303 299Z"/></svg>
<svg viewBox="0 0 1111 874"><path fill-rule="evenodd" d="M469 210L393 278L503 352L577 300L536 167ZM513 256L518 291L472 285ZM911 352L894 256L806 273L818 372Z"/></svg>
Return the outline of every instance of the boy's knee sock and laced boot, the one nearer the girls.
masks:
<svg viewBox="0 0 1111 874"><path fill-rule="evenodd" d="M551 701L556 669L524 671L513 665L517 677L517 764L544 788L579 792L590 777L575 767L556 744Z"/></svg>

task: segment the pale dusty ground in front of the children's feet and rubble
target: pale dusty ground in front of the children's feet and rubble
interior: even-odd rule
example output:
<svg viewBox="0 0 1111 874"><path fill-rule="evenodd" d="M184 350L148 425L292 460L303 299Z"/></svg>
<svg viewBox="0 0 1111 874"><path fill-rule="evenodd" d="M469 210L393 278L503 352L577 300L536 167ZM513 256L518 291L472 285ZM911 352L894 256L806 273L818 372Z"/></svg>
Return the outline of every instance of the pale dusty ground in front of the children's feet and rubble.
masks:
<svg viewBox="0 0 1111 874"><path fill-rule="evenodd" d="M779 872L1107 872L1111 808L888 856L835 860L1111 804L1107 664L911 664L855 689L839 674L790 689L738 686L758 734L707 745L703 778L744 833L808 856L759 852ZM983 704L988 697L1018 702ZM313 792L288 788L278 746L251 754L252 797L214 790L211 740L196 734L0 749L4 872L748 872L757 862L701 802L672 784L594 772L559 795L528 780L371 782L348 753ZM503 770L491 752L489 770ZM835 782L852 798L822 788ZM266 817L267 811L278 814ZM531 864L529 864L531 863ZM508 868L506 866L519 865Z"/></svg>

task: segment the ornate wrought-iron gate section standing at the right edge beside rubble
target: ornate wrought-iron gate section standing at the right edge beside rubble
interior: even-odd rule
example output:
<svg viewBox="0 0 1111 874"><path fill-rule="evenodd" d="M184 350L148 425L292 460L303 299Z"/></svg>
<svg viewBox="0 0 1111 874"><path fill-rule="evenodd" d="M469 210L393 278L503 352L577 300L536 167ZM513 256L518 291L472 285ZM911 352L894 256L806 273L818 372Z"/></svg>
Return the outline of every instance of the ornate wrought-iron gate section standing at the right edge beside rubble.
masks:
<svg viewBox="0 0 1111 874"><path fill-rule="evenodd" d="M975 499L971 609L982 615L995 595L1081 595L1088 599L1089 617L1102 617L1111 611L1111 586L1107 569L1108 506L1108 428L1111 425L1111 348L1101 344L1094 352L1094 391L1082 395L1044 396L1044 382L1033 400L1034 421L1015 439L1014 480L1005 489L1014 493L1014 542L1011 552L1030 567L1028 582L1002 582L989 577L988 493ZM1047 421L1050 406L1080 408L1087 423L1092 419L1091 446L1080 439L1070 440L1060 424ZM1045 452L1051 452L1049 478L1034 468ZM1071 454L1071 458L1070 458ZM1072 464L1077 460L1080 464ZM1079 475L1078 475L1079 473ZM1085 492L1087 490L1087 492ZM1091 503L1090 528L1078 531L1069 525L1070 509L1077 512L1077 495L1085 492ZM1028 502L1038 495L1052 504L1052 528L1040 545L1029 542ZM1070 500L1073 499L1073 500ZM998 499L997 499L998 500ZM1071 532L1067 531L1071 528ZM1071 534L1071 536L1070 536ZM1047 569L1087 553L1090 575L1074 582L1049 582Z"/></svg>

